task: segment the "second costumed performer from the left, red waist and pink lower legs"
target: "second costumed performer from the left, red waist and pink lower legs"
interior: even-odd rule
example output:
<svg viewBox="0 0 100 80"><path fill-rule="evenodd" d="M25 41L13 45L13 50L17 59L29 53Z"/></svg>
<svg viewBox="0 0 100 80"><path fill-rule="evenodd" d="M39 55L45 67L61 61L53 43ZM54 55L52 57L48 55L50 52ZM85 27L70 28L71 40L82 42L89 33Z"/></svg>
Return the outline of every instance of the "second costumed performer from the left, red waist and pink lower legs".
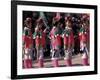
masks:
<svg viewBox="0 0 100 80"><path fill-rule="evenodd" d="M43 67L43 47L45 46L45 42L42 42L45 39L45 35L43 35L42 31L43 21L42 19L37 20L37 26L35 28L35 32L33 34L33 38L35 39L36 50L37 50L37 60L39 67Z"/></svg>

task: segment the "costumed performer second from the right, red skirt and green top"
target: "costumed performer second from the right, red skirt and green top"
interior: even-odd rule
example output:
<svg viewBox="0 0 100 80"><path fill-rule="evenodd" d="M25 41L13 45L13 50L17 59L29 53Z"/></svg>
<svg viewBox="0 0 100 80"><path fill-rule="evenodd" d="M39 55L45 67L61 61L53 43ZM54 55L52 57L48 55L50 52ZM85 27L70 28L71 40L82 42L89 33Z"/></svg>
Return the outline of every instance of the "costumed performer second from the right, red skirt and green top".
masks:
<svg viewBox="0 0 100 80"><path fill-rule="evenodd" d="M64 52L65 52L65 64L66 66L72 65L72 52L74 49L74 35L72 30L71 20L65 20L65 30L63 32Z"/></svg>

